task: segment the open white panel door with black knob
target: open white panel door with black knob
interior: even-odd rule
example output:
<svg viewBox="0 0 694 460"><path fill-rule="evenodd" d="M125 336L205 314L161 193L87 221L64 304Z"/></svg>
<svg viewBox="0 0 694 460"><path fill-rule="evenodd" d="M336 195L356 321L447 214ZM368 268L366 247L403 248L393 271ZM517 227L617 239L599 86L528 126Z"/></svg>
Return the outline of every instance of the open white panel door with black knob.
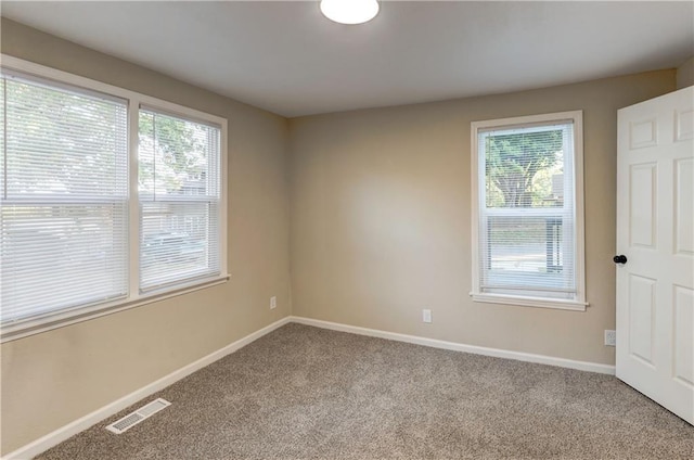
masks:
<svg viewBox="0 0 694 460"><path fill-rule="evenodd" d="M694 424L694 87L618 113L617 376Z"/></svg>

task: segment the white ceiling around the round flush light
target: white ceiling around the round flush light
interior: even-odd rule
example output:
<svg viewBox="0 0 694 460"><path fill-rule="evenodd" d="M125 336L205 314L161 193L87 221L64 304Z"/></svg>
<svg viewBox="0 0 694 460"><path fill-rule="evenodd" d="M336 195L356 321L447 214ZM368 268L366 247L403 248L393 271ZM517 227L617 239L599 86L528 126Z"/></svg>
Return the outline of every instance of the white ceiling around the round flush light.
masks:
<svg viewBox="0 0 694 460"><path fill-rule="evenodd" d="M2 15L284 116L671 68L694 2L386 1L370 23L316 1L12 2Z"/></svg>

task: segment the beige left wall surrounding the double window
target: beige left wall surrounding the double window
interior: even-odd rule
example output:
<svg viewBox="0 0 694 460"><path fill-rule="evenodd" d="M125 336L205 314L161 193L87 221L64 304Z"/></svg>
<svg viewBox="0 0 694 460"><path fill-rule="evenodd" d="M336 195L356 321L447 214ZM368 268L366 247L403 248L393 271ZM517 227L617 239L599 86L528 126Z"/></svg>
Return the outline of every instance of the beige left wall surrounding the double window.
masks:
<svg viewBox="0 0 694 460"><path fill-rule="evenodd" d="M3 344L7 453L287 316L291 304L286 119L4 18L1 39L3 53L228 118L230 155L231 281Z"/></svg>

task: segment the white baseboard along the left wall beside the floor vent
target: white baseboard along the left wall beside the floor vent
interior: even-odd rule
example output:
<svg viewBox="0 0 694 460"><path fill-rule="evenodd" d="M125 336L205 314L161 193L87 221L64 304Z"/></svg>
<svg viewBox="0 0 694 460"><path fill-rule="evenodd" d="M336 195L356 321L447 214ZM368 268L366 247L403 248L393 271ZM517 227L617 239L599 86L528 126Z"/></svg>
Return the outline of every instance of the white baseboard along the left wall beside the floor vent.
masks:
<svg viewBox="0 0 694 460"><path fill-rule="evenodd" d="M240 348L243 348L249 343L260 338L261 336L274 331L278 328L281 328L290 321L290 317L286 317L260 329L259 331L248 334L245 337L237 340L236 342L198 359L197 361L191 362L190 365L184 366L181 369L174 371L170 374L165 375L162 379L152 382L149 385L130 393L129 395L121 397L120 399L115 400L102 407L101 409L97 409L95 411L88 413L81 419L77 419L74 422L68 423L67 425L62 426L54 432L49 433L46 436L42 436L27 444L26 446L5 455L4 457L2 457L2 460L31 459L39 453L50 449L51 447L62 443L63 440L76 435L77 433L82 432L90 426L93 426L97 423L107 419L108 417L121 411L128 406L136 404L140 399L146 398L147 396L166 388L172 383L176 383L177 381L192 374L193 372L204 368L205 366L209 366L218 359L221 359L224 356L230 355Z"/></svg>

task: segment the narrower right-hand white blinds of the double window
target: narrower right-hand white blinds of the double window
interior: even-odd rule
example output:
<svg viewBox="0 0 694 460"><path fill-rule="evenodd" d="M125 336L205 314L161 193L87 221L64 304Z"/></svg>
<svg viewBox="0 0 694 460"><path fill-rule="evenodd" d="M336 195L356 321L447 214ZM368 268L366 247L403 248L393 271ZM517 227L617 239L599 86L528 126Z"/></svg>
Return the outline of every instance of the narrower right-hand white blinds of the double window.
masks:
<svg viewBox="0 0 694 460"><path fill-rule="evenodd" d="M140 110L140 290L220 273L220 128Z"/></svg>

